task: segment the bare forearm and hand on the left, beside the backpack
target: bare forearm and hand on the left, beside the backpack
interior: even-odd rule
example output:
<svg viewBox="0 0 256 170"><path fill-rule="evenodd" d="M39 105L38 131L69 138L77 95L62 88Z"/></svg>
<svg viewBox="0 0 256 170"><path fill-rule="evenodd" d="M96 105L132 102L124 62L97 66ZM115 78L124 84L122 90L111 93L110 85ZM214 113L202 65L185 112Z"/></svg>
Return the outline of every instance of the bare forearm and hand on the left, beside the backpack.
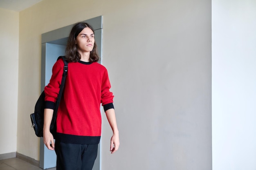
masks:
<svg viewBox="0 0 256 170"><path fill-rule="evenodd" d="M53 109L45 108L44 113L44 126L43 126L43 138L44 144L49 150L54 150L54 139L50 132L50 126L52 122ZM52 146L51 146L52 144Z"/></svg>

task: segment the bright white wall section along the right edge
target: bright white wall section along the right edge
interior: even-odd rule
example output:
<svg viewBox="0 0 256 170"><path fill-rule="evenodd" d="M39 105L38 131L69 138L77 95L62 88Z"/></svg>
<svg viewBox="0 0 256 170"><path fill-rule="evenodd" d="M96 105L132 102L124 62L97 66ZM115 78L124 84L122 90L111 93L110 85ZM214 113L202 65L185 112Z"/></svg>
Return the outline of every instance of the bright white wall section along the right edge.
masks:
<svg viewBox="0 0 256 170"><path fill-rule="evenodd" d="M256 169L255 30L255 0L212 0L213 170Z"/></svg>

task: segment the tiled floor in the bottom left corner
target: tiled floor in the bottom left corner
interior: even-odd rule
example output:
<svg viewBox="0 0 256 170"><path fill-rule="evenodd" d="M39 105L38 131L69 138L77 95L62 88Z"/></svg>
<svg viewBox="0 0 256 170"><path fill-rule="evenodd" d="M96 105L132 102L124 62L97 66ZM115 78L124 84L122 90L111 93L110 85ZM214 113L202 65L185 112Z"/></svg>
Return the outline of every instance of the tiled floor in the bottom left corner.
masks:
<svg viewBox="0 0 256 170"><path fill-rule="evenodd" d="M42 170L41 168L34 166L19 158L10 158L0 160L0 170ZM47 170L56 170L56 168L50 168Z"/></svg>

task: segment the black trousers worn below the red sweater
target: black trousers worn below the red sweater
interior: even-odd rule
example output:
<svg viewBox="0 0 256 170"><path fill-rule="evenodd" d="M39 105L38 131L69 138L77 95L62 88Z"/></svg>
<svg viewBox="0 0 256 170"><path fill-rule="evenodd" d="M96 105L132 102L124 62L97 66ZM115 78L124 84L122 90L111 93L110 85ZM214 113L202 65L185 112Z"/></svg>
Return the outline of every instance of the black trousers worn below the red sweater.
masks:
<svg viewBox="0 0 256 170"><path fill-rule="evenodd" d="M56 170L92 170L98 144L65 144L55 141Z"/></svg>

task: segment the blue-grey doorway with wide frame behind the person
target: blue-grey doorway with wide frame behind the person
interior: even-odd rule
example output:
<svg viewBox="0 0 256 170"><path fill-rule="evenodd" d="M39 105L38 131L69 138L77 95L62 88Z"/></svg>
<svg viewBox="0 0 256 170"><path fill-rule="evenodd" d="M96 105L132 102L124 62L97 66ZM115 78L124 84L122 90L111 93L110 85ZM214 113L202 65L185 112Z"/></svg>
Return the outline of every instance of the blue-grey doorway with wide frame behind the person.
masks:
<svg viewBox="0 0 256 170"><path fill-rule="evenodd" d="M102 46L102 16L98 16L83 22L89 23L95 34L95 42L99 50L99 56L101 58L101 46ZM58 56L65 55L65 46L67 44L67 38L69 36L72 25L65 26L60 29L56 29L42 34L42 58L41 58L41 91L49 83L49 79L52 76L52 66L56 62ZM98 149L98 156L95 160L92 170L100 169L100 144ZM52 150L48 150L43 143L43 138L40 138L40 168L48 169L56 167L56 154Z"/></svg>

